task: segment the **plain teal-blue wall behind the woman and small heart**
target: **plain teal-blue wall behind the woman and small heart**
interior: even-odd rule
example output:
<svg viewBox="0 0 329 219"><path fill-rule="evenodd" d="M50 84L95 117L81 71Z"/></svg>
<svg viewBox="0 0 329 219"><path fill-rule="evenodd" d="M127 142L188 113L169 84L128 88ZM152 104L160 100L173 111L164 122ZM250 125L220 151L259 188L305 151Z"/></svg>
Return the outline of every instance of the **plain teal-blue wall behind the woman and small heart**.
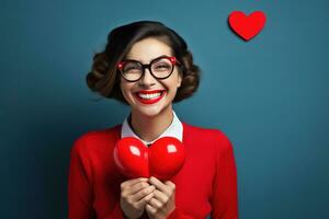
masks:
<svg viewBox="0 0 329 219"><path fill-rule="evenodd" d="M84 78L107 33L157 20L188 42L198 92L174 105L234 143L241 219L329 218L329 3L280 1L1 1L0 218L66 218L69 151L128 107L97 102ZM261 10L246 43L231 11Z"/></svg>

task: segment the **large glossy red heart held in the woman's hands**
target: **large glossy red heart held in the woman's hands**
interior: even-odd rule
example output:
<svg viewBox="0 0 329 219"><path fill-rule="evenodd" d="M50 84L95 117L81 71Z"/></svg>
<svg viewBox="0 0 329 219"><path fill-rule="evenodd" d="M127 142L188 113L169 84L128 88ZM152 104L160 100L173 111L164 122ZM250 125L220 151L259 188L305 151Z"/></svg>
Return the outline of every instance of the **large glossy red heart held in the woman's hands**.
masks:
<svg viewBox="0 0 329 219"><path fill-rule="evenodd" d="M114 161L118 170L128 177L168 180L183 166L185 151L183 143L173 137L156 140L149 148L139 139L126 137L114 148Z"/></svg>

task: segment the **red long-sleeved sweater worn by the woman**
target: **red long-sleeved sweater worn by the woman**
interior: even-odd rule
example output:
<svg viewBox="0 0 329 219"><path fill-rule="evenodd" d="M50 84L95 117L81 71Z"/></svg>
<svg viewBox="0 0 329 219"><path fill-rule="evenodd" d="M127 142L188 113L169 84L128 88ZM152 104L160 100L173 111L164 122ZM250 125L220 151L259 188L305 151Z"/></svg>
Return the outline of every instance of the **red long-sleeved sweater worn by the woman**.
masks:
<svg viewBox="0 0 329 219"><path fill-rule="evenodd" d="M237 168L234 148L218 129L183 125L185 163L172 178L175 210L169 219L237 219ZM68 177L69 219L122 219L120 185L129 180L113 160L121 124L93 130L75 141ZM148 218L146 211L141 218Z"/></svg>

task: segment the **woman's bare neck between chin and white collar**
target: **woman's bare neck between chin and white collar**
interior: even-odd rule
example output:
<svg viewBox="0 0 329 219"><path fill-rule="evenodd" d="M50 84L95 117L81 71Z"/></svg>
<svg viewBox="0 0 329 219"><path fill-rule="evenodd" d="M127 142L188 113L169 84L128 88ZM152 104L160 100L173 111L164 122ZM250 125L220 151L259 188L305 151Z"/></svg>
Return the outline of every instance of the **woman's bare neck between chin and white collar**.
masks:
<svg viewBox="0 0 329 219"><path fill-rule="evenodd" d="M172 108L168 107L156 116L147 116L132 111L131 127L145 141L157 139L172 123Z"/></svg>

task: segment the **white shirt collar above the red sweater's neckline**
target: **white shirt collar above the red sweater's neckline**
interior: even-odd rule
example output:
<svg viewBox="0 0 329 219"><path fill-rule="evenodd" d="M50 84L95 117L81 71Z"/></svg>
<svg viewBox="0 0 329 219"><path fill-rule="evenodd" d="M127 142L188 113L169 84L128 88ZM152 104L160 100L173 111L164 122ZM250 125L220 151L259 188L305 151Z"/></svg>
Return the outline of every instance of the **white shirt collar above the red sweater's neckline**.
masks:
<svg viewBox="0 0 329 219"><path fill-rule="evenodd" d="M121 129L121 138L135 137L135 138L138 138L139 140L141 140L141 142L144 142L145 145L154 143L156 140L158 140L159 138L162 138L162 137L174 137L174 138L179 139L181 142L183 142L183 125L182 125L181 120L178 118L178 116L175 115L174 111L172 111L172 114L173 114L173 119L172 119L170 126L157 139L148 142L148 141L140 139L133 131L133 129L128 123L128 119L131 116L131 113L129 113L123 122L122 129Z"/></svg>

